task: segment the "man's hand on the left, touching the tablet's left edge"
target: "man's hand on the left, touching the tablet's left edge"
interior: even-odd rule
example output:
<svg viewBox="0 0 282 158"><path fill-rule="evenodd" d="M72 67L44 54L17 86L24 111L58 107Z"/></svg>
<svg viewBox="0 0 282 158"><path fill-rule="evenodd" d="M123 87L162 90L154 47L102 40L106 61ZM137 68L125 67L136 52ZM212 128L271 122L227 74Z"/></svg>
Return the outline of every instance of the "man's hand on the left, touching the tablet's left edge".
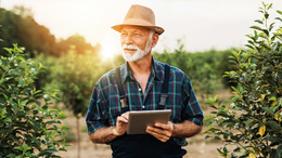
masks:
<svg viewBox="0 0 282 158"><path fill-rule="evenodd" d="M116 127L113 129L113 133L116 136L120 136L127 131L127 122L128 122L129 113L124 113L121 116L118 116L116 119Z"/></svg>

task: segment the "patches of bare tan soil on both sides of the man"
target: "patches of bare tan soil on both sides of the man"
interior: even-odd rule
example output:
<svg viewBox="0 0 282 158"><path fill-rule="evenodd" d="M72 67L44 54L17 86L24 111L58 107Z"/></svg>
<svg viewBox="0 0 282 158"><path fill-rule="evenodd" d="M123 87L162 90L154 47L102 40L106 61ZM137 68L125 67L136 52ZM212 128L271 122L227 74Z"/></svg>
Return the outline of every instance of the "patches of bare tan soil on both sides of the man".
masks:
<svg viewBox="0 0 282 158"><path fill-rule="evenodd" d="M221 98L228 98L231 93L228 90L218 92L219 96ZM205 106L203 108L204 115L208 115L211 111L211 108ZM65 111L68 118L65 120L65 122L70 127L72 132L76 133L76 118L73 116L73 114L68 110ZM85 123L85 117L79 119L80 122L80 135L81 135L81 152L80 152L80 158L111 158L112 157L112 150L108 145L105 144L93 144L89 139L88 134L86 132L86 123ZM189 145L183 147L187 149L187 155L184 158L220 158L217 148L220 148L223 146L222 142L215 142L211 140L206 140L203 132L207 128L204 126L202 132L193 137L188 139ZM77 143L72 142L68 143L70 146L67 147L67 152L60 152L59 155L63 158L78 158L77 153ZM234 147L234 146L233 146ZM231 148L233 148L231 146Z"/></svg>

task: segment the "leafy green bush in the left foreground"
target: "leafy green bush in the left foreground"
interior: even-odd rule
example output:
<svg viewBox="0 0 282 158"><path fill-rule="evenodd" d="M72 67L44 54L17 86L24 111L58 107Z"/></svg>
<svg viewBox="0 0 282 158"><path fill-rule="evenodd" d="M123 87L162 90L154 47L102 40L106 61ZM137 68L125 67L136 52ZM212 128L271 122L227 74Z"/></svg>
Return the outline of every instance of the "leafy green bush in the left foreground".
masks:
<svg viewBox="0 0 282 158"><path fill-rule="evenodd" d="M33 87L43 66L25 60L23 48L5 50L0 60L0 157L53 157L66 150L60 140L66 115L49 107L57 91Z"/></svg>

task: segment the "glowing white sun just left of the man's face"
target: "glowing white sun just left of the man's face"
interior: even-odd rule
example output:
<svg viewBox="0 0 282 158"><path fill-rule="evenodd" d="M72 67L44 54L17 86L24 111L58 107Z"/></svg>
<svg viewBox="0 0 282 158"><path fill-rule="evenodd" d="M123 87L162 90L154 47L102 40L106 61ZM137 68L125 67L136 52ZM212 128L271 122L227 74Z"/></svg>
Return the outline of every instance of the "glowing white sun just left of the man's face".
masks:
<svg viewBox="0 0 282 158"><path fill-rule="evenodd" d="M115 41L113 38L105 38L101 42L102 49L101 54L103 56L103 61L112 60L118 52L119 52L119 45L118 41Z"/></svg>

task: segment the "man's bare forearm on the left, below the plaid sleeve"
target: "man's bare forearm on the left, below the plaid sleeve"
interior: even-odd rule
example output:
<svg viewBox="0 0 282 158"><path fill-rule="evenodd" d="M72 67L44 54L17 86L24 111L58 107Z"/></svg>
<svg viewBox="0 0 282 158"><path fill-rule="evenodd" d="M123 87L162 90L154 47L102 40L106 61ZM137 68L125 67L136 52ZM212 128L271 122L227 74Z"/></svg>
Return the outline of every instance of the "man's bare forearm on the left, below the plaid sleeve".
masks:
<svg viewBox="0 0 282 158"><path fill-rule="evenodd" d="M94 133L89 134L89 139L93 143L110 143L114 139L117 137L117 135L114 133L114 128L115 127L104 127L99 130L97 130Z"/></svg>

